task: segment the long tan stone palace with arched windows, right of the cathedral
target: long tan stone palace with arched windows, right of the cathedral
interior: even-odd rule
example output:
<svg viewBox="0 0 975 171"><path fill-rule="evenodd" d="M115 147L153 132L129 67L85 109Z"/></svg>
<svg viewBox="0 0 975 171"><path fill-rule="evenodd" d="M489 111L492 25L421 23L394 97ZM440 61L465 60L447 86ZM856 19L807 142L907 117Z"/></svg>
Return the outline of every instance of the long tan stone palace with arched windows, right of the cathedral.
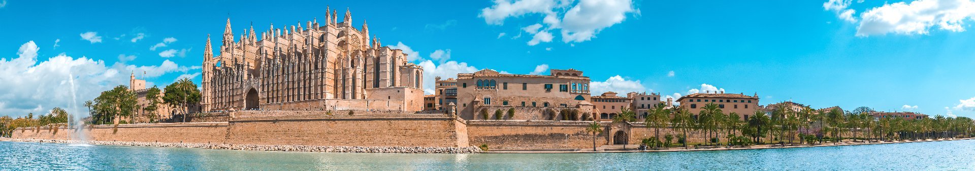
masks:
<svg viewBox="0 0 975 171"><path fill-rule="evenodd" d="M574 69L552 69L550 73L548 76L501 74L483 69L457 74L458 114L463 119L472 120L480 110L515 108L518 111L516 118L542 120L541 112L546 109L592 113L592 104L587 102L590 99L589 77Z"/></svg>

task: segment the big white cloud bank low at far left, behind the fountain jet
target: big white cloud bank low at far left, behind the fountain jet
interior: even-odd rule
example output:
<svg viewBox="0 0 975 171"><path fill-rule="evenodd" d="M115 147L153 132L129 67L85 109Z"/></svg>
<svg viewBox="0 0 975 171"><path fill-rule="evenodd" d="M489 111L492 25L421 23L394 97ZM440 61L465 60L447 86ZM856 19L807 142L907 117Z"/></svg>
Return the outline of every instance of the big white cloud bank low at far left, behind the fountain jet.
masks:
<svg viewBox="0 0 975 171"><path fill-rule="evenodd" d="M38 61L40 49L31 41L20 46L17 57L0 58L0 114L43 114L54 107L84 114L81 104L103 90L129 85L129 73L146 71L145 78L193 68L164 61L155 66L106 65L102 60L71 57L64 53Z"/></svg>

